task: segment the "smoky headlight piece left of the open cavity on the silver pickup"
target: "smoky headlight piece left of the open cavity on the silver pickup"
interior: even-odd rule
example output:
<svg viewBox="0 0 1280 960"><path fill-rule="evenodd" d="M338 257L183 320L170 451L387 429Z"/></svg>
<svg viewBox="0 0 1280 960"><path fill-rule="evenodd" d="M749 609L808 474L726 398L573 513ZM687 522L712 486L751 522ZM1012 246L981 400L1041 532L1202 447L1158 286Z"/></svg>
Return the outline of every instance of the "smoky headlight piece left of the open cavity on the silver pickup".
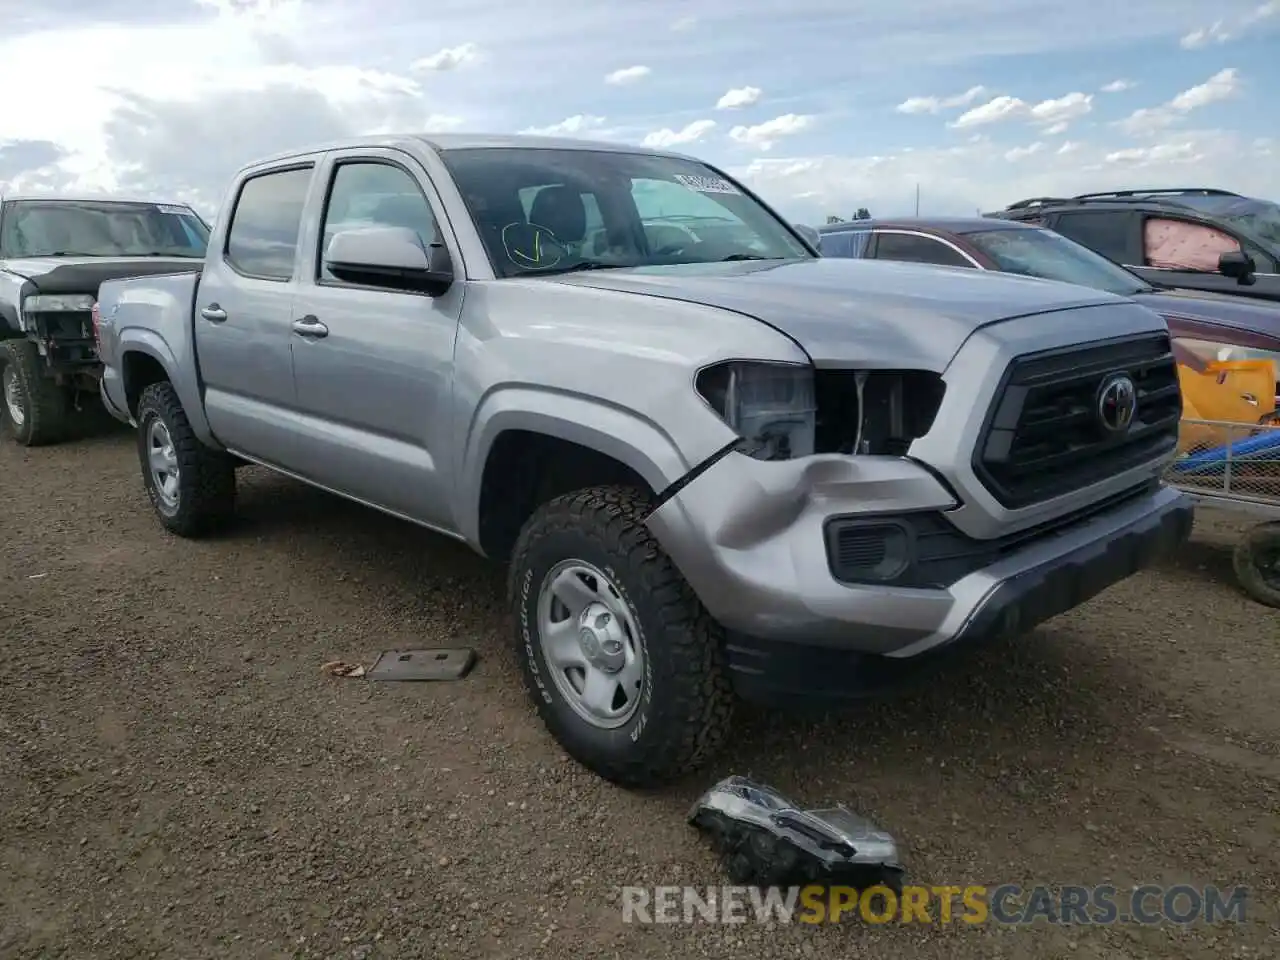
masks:
<svg viewBox="0 0 1280 960"><path fill-rule="evenodd" d="M817 403L813 367L728 361L699 371L698 393L742 438L756 460L791 460L814 452Z"/></svg>

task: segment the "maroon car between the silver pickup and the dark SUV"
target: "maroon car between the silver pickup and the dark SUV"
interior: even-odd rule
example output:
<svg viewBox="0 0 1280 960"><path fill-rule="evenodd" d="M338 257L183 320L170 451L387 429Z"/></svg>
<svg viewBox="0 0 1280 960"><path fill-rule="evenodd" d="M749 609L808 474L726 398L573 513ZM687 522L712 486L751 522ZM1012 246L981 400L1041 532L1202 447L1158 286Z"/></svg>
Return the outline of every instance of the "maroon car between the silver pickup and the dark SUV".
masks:
<svg viewBox="0 0 1280 960"><path fill-rule="evenodd" d="M1175 338L1220 344L1219 360L1267 358L1280 370L1280 303L1156 287L1044 227L991 218L849 220L818 228L818 237L823 256L997 270L1119 293L1164 316Z"/></svg>

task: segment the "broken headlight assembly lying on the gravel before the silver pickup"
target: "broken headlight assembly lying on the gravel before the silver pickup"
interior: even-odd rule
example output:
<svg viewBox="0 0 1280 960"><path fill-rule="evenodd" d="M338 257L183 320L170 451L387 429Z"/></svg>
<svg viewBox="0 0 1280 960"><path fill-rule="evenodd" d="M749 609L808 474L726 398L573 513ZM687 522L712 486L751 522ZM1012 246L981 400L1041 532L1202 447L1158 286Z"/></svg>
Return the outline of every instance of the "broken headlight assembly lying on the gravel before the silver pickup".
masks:
<svg viewBox="0 0 1280 960"><path fill-rule="evenodd" d="M703 794L689 822L712 837L733 883L902 888L893 837L844 806L801 810L773 787L735 776Z"/></svg>

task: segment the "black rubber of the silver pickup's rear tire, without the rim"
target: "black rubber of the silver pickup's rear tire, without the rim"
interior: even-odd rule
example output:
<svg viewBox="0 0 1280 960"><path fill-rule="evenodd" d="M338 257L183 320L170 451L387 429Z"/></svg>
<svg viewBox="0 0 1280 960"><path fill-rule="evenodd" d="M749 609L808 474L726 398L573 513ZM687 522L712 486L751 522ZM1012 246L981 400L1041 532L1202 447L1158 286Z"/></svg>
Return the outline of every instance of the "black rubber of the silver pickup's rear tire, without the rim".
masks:
<svg viewBox="0 0 1280 960"><path fill-rule="evenodd" d="M236 512L236 465L229 456L206 447L191 429L187 412L178 399L178 392L168 380L147 387L138 398L138 451L145 445L146 415L154 411L169 428L174 451L178 454L178 472L184 480L178 500L178 512L166 517L159 509L156 516L166 530L178 536L200 538L215 532L230 521ZM143 489L151 497L150 474L142 463Z"/></svg>

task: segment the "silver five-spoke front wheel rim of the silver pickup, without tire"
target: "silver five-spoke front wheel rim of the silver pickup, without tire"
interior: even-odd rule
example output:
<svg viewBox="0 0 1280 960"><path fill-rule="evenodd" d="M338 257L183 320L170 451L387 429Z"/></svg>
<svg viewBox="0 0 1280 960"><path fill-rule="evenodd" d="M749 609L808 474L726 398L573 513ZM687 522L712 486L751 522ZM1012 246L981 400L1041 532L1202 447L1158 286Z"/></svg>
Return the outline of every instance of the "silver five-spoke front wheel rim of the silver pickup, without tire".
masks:
<svg viewBox="0 0 1280 960"><path fill-rule="evenodd" d="M538 591L538 640L559 695L593 727L616 730L635 714L645 650L635 613L596 567L563 561Z"/></svg>

